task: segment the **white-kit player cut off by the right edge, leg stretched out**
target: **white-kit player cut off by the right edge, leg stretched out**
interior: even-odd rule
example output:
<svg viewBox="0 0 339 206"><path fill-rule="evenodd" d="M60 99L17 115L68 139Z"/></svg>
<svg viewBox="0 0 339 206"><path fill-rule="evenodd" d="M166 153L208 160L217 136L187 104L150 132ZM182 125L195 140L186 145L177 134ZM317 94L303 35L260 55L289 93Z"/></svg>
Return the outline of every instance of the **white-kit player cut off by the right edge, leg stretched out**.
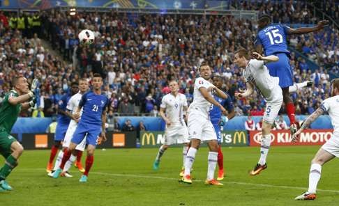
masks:
<svg viewBox="0 0 339 206"><path fill-rule="evenodd" d="M322 166L334 157L339 157L339 79L331 81L331 97L324 100L320 107L303 122L301 128L292 136L292 141L298 141L303 129L310 126L312 122L324 113L329 113L331 118L333 136L322 145L322 148L318 150L312 159L308 191L297 196L295 200L314 200L316 198L317 184L322 174Z"/></svg>

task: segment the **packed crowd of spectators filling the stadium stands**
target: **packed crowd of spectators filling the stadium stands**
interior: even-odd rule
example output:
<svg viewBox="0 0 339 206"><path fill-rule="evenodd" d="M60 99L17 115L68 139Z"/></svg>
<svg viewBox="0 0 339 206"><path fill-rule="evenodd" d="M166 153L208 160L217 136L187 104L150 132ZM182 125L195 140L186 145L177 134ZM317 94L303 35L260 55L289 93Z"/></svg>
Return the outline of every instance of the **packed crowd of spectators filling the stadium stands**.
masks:
<svg viewBox="0 0 339 206"><path fill-rule="evenodd" d="M256 6L259 6L259 13L270 13L273 22L317 23L312 10L301 1L283 5ZM241 8L250 10L253 5L243 3ZM337 14L338 6L334 8ZM0 97L10 89L10 79L15 74L23 74L29 81L33 76L38 77L43 85L36 111L43 111L45 116L56 113L57 102L68 91L71 81L80 77L90 81L93 73L105 78L104 90L113 113L157 116L171 79L179 80L181 93L192 101L193 83L202 61L209 62L214 74L223 76L224 90L234 100L236 115L260 116L264 111L264 99L257 93L246 100L234 98L236 90L245 88L245 84L241 69L232 62L232 53L239 47L253 51L257 26L249 20L231 16L113 12L70 16L54 10L41 13L39 25L34 24L33 15L31 20L25 17L22 28L22 23L13 24L15 15L0 14L3 37L0 42ZM78 45L77 33L85 28L96 34L96 42L91 46ZM312 71L292 52L290 64L294 68L294 81L311 79L315 83L293 94L296 114L312 113L328 97L329 71L338 73L339 67L338 36L338 29L329 27L289 38L292 47L321 65L319 70ZM41 38L50 42L54 51L44 48ZM284 106L280 112L285 113ZM22 116L31 116L31 113L22 113Z"/></svg>

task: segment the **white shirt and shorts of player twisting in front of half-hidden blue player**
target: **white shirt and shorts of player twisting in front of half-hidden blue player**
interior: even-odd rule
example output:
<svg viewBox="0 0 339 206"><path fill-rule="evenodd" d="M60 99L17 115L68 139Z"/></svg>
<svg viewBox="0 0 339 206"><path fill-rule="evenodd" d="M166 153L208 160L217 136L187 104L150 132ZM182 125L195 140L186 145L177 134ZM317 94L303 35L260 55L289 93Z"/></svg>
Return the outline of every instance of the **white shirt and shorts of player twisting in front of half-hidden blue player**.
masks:
<svg viewBox="0 0 339 206"><path fill-rule="evenodd" d="M211 103L209 103L199 88L209 89L211 84L206 79L199 77L195 79L193 102L188 109L188 133L190 138L197 138L201 141L216 140L216 132L209 118L209 110L211 109ZM211 92L209 92L211 95Z"/></svg>

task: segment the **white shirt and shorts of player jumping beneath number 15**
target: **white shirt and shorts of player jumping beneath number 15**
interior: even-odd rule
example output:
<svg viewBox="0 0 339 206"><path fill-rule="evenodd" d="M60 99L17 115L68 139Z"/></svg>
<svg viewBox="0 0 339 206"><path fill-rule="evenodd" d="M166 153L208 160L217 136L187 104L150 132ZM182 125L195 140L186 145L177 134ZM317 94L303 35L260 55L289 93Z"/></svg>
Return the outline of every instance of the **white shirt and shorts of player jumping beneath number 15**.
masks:
<svg viewBox="0 0 339 206"><path fill-rule="evenodd" d="M279 86L279 78L271 77L264 61L251 59L243 70L243 77L253 84L266 100L266 110L263 120L273 124L283 104L283 90Z"/></svg>

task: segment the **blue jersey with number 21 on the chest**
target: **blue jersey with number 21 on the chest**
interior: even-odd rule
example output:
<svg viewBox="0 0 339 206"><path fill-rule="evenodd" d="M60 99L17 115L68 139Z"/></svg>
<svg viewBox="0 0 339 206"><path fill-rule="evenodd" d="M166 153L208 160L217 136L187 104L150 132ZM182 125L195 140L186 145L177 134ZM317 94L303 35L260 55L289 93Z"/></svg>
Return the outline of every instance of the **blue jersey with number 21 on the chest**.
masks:
<svg viewBox="0 0 339 206"><path fill-rule="evenodd" d="M96 95L92 91L84 93L79 102L83 109L80 122L101 126L101 115L105 112L108 102L108 98L103 94Z"/></svg>

